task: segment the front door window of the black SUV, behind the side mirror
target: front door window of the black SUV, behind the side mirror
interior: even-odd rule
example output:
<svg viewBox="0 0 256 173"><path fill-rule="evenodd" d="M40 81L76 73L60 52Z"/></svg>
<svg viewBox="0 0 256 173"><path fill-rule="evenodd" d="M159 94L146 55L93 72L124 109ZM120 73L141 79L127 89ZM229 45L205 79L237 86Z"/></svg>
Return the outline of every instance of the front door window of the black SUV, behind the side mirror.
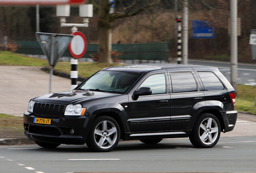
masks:
<svg viewBox="0 0 256 173"><path fill-rule="evenodd" d="M139 88L141 87L150 87L152 90L152 94L161 94L166 93L166 82L165 82L165 74L155 74L149 76Z"/></svg>

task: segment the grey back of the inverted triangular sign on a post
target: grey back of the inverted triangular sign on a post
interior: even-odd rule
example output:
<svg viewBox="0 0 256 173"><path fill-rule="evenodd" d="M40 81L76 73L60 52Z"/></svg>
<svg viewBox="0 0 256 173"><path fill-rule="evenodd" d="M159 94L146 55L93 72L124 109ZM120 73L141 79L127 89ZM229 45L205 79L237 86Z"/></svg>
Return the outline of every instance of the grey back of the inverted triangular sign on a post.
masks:
<svg viewBox="0 0 256 173"><path fill-rule="evenodd" d="M55 66L74 35L36 32L37 40L51 66Z"/></svg>

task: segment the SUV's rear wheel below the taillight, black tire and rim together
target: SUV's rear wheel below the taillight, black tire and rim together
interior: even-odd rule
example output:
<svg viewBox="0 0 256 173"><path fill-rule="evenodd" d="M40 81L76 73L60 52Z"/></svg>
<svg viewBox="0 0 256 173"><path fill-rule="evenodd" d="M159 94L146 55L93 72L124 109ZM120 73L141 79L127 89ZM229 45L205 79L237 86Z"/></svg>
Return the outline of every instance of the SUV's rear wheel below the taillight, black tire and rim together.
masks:
<svg viewBox="0 0 256 173"><path fill-rule="evenodd" d="M195 147L211 148L217 144L220 135L219 120L213 114L203 113L198 117L189 139Z"/></svg>

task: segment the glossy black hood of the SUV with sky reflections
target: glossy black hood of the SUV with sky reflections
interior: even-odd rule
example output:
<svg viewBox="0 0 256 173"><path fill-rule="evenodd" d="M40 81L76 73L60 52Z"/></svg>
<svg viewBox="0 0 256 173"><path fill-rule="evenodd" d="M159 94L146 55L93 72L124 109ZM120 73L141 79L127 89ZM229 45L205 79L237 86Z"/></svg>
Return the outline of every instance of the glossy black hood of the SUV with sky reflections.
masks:
<svg viewBox="0 0 256 173"><path fill-rule="evenodd" d="M107 97L115 97L120 94L116 93L104 93L99 91L83 91L83 90L70 90L62 91L58 93L50 93L35 97L33 100L37 102L47 103L61 103L61 104L75 104L88 100L102 99Z"/></svg>

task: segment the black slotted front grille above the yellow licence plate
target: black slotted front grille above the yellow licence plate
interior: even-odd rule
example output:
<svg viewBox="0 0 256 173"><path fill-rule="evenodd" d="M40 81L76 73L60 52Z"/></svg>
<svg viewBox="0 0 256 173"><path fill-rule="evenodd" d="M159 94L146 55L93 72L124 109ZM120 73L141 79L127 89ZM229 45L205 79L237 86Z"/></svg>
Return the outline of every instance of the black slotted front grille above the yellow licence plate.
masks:
<svg viewBox="0 0 256 173"><path fill-rule="evenodd" d="M64 105L35 103L33 114L49 117L62 117L64 116L64 108Z"/></svg>

